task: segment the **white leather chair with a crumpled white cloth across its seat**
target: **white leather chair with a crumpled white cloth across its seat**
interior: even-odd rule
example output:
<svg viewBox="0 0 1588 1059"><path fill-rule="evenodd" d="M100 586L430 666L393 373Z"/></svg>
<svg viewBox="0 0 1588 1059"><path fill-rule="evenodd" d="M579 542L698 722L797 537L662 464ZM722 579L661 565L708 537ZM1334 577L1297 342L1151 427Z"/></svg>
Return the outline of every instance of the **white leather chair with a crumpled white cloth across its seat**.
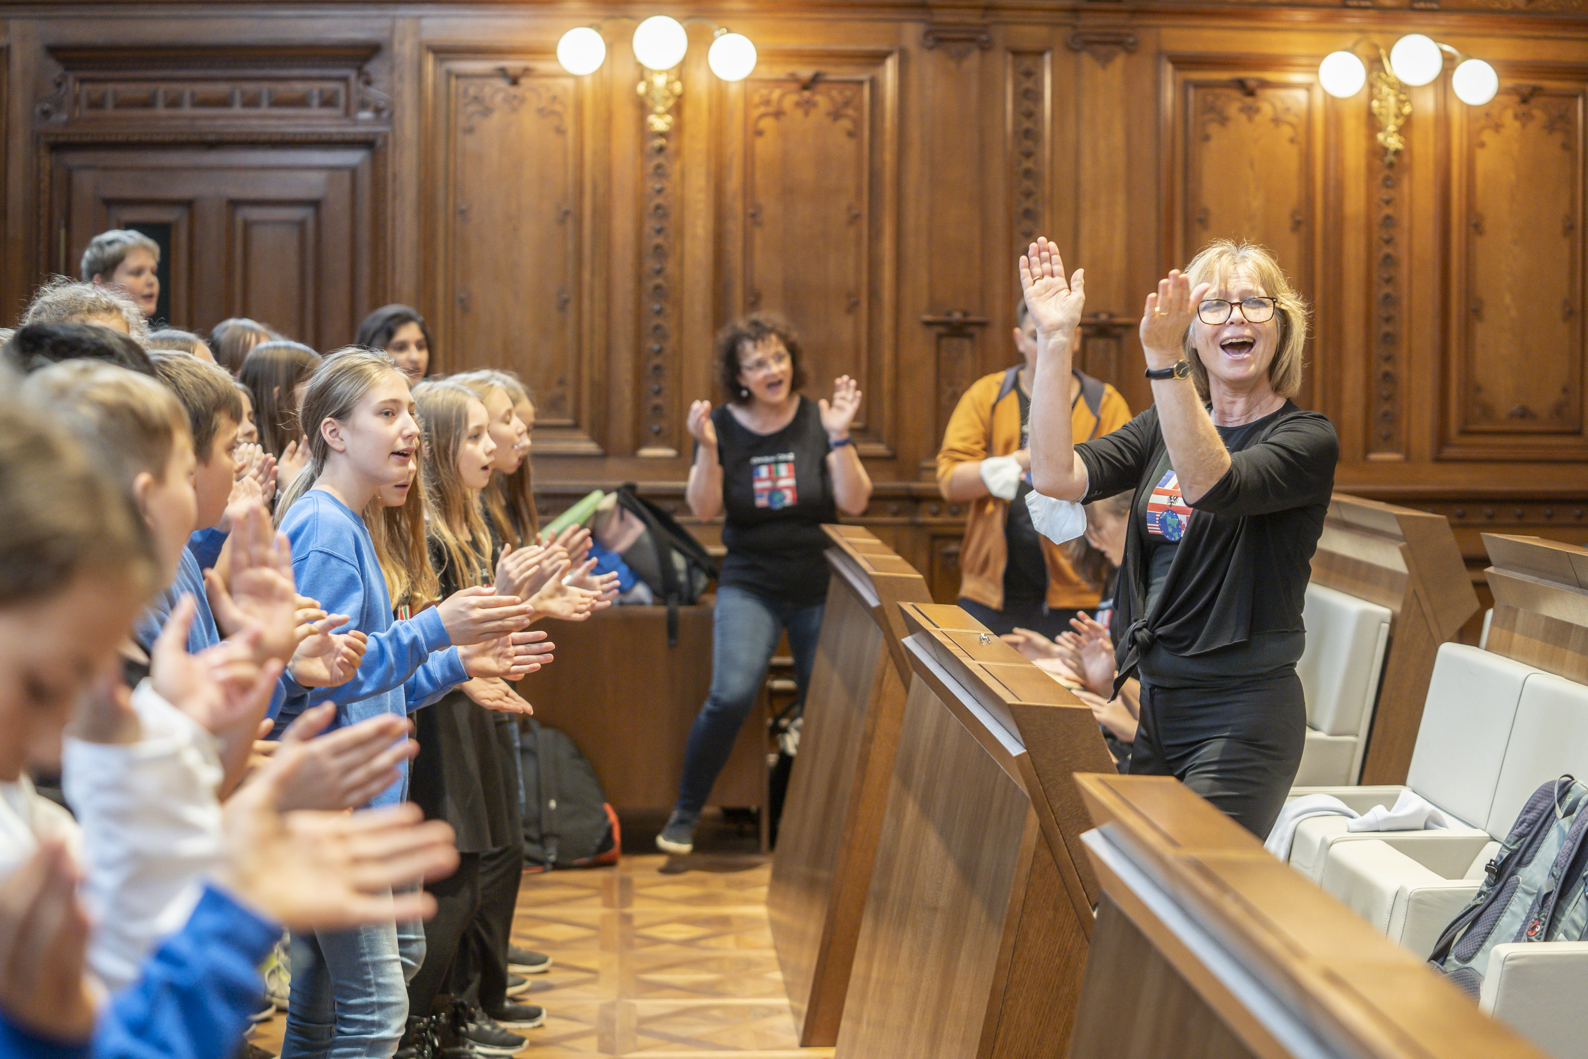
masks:
<svg viewBox="0 0 1588 1059"><path fill-rule="evenodd" d="M1493 808L1517 703L1532 673L1540 670L1472 646L1440 646L1405 786L1293 788L1291 797L1332 794L1366 813L1375 805L1394 805L1401 791L1410 789L1443 810L1455 826L1448 830L1348 832L1343 816L1313 816L1296 827L1291 867L1321 883L1331 849L1340 843L1382 840L1404 846L1434 835L1466 840L1461 864L1470 864L1491 840L1483 826Z"/></svg>

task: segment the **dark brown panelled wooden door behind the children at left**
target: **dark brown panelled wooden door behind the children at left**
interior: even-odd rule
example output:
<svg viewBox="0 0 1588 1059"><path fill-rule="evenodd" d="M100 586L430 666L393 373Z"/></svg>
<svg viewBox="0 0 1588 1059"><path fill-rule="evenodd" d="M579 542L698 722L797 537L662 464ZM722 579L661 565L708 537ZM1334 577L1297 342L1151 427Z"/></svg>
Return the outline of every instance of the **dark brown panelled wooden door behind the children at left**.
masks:
<svg viewBox="0 0 1588 1059"><path fill-rule="evenodd" d="M370 162L364 144L57 148L44 267L75 275L94 233L137 227L170 246L173 325L248 316L335 349L373 306Z"/></svg>

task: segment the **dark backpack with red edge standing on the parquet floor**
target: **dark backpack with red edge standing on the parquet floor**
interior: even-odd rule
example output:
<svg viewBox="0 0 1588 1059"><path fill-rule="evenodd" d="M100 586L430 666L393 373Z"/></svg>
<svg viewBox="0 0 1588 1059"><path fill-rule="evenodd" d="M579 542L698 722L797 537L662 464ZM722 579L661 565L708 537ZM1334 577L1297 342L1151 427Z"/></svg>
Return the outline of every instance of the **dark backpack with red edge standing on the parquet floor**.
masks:
<svg viewBox="0 0 1588 1059"><path fill-rule="evenodd" d="M618 813L565 732L534 718L518 730L524 865L537 872L616 864Z"/></svg>

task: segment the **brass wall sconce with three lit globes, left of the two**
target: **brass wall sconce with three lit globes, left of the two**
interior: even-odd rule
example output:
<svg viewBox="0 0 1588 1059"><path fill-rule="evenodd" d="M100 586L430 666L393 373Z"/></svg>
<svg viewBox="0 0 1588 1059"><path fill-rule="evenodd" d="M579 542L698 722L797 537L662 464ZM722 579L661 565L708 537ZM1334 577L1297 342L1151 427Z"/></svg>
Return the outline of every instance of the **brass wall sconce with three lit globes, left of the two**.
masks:
<svg viewBox="0 0 1588 1059"><path fill-rule="evenodd" d="M688 51L689 35L683 22L667 14L653 14L634 30L634 57L645 68L637 90L649 106L645 121L651 132L665 133L673 127L673 103L684 86L672 70ZM575 76L596 73L605 60L607 41L599 25L578 25L557 41L557 62ZM743 81L756 68L756 46L743 33L719 25L705 60L723 81Z"/></svg>

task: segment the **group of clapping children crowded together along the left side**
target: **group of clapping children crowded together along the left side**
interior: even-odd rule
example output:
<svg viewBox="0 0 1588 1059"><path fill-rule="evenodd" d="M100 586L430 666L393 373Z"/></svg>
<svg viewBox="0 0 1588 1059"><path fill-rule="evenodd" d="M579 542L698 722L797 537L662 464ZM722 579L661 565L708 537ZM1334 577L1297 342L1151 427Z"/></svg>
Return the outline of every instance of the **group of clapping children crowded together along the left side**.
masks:
<svg viewBox="0 0 1588 1059"><path fill-rule="evenodd" d="M529 394L402 306L321 356L100 279L0 367L0 1054L230 1059L265 965L284 1056L518 1051L515 683L618 580L540 535Z"/></svg>

